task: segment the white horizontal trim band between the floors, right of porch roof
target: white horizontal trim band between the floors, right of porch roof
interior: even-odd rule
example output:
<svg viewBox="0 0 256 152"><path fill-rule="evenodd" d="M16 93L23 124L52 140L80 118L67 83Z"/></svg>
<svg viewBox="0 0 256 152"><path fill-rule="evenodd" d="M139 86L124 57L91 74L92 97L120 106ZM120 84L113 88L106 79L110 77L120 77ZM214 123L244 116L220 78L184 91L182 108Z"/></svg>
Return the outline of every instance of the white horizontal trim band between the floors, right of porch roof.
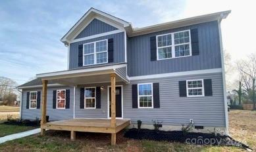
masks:
<svg viewBox="0 0 256 152"><path fill-rule="evenodd" d="M186 76L186 75L193 75L193 74L207 74L207 73L218 73L218 72L222 72L221 68L213 68L213 69L207 69L207 70L192 70L192 71L185 71L185 72L172 72L172 73L165 73L165 74L151 74L146 76L130 76L130 80L165 78L170 76Z"/></svg>

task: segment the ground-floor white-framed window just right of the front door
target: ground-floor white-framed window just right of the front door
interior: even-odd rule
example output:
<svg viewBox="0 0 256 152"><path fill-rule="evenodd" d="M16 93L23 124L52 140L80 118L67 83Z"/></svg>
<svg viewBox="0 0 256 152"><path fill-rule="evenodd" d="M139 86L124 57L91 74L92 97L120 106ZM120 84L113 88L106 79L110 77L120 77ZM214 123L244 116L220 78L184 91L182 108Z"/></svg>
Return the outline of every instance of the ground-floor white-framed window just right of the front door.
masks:
<svg viewBox="0 0 256 152"><path fill-rule="evenodd" d="M138 84L138 107L153 108L153 84Z"/></svg>

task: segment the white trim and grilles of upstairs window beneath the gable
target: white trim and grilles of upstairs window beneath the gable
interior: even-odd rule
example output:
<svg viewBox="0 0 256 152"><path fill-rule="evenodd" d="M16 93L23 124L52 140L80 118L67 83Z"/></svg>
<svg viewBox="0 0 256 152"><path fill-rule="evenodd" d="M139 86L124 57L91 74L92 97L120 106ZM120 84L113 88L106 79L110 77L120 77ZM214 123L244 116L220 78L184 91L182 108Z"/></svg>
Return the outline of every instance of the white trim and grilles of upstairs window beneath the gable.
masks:
<svg viewBox="0 0 256 152"><path fill-rule="evenodd" d="M107 51L96 52L96 43L99 42L99 41L107 41ZM84 43L83 44L83 66L90 66L90 65L95 65L95 64L105 64L105 63L109 62L109 57L108 57L108 55L109 55L109 48L108 48L109 47L109 44L108 44L109 40L108 39L102 39L102 40L99 40L99 41L93 41L93 42L90 42L90 43ZM84 54L84 45L91 44L91 43L93 43L93 53L88 53L86 55L93 55L94 63L93 64L84 64L84 56L85 56L85 54ZM97 63L97 54L98 53L105 53L105 52L107 53L107 62Z"/></svg>

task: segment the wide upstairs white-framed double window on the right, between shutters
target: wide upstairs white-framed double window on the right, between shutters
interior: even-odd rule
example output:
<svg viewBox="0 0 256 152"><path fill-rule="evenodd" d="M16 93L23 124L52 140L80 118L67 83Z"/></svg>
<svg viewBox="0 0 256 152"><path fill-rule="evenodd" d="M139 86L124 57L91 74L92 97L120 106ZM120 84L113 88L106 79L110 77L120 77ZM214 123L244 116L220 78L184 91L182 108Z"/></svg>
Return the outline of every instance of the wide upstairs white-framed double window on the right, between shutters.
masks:
<svg viewBox="0 0 256 152"><path fill-rule="evenodd" d="M157 36L157 60L192 55L190 30Z"/></svg>

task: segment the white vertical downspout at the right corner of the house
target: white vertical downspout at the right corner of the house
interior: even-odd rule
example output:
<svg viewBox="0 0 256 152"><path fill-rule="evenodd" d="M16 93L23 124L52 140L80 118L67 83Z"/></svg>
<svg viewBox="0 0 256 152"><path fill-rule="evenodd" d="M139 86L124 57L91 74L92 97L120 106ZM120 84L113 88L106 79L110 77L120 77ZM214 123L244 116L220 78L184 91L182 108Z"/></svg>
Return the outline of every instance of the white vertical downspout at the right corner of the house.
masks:
<svg viewBox="0 0 256 152"><path fill-rule="evenodd" d="M221 66L222 66L222 84L223 84L223 96L224 96L224 113L225 113L225 132L229 134L228 131L228 103L226 99L226 77L225 77L225 67L224 67L224 52L222 47L222 34L220 29L221 18L218 20L218 36L220 40L220 56L221 56Z"/></svg>

